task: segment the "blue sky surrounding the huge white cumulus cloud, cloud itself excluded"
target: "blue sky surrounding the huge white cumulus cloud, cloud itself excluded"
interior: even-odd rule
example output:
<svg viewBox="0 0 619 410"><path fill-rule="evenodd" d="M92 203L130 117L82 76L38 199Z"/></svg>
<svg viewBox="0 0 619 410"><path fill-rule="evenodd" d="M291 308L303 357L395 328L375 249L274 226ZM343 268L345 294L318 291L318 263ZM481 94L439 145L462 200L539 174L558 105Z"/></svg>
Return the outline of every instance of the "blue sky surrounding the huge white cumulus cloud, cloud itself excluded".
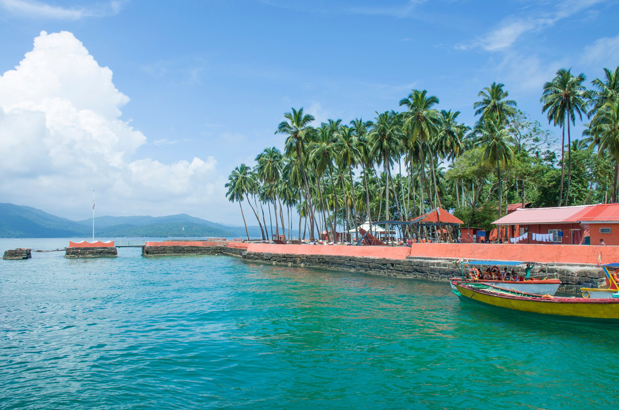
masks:
<svg viewBox="0 0 619 410"><path fill-rule="evenodd" d="M192 192L217 185L241 162L251 164L264 147L282 147L274 131L290 107L305 107L319 121L370 119L374 111L398 110L400 98L417 88L438 96L439 108L462 111L470 124L477 92L496 81L547 124L539 97L556 69L571 67L591 80L602 67L619 65L617 6L604 0L0 0L0 73L33 50L42 30L71 32L131 98L119 108L119 120L130 121L145 141L134 144L127 164L198 157L212 169L207 180L188 182ZM97 87L89 84L84 93L97 99ZM27 178L40 180L49 170L28 172ZM69 182L58 185L71 190ZM108 188L100 187L103 198ZM226 206L223 188L212 188L206 203L157 196L152 186L146 203L139 189L123 189L136 197L102 199L100 212L187 212L241 223L238 207ZM56 197L40 190L0 187L2 201L74 219L89 211L89 183L79 190L51 201Z"/></svg>

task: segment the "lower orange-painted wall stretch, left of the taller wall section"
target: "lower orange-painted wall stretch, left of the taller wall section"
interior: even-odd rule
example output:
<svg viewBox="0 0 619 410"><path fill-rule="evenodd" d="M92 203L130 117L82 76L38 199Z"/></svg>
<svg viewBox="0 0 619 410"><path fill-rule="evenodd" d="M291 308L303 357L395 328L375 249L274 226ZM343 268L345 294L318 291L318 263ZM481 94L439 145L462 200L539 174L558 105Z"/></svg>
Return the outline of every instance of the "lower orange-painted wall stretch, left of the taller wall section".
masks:
<svg viewBox="0 0 619 410"><path fill-rule="evenodd" d="M371 258L406 259L407 246L347 246L347 245L271 245L247 243L249 252L290 253L295 255L369 256Z"/></svg>

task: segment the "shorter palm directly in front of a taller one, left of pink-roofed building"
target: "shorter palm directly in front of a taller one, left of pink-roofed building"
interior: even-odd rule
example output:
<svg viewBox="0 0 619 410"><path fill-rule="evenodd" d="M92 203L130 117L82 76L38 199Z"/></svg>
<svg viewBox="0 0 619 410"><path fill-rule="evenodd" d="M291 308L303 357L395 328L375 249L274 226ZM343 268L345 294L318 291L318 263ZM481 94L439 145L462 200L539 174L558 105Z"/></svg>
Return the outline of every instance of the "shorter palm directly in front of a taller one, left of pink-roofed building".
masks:
<svg viewBox="0 0 619 410"><path fill-rule="evenodd" d="M477 123L474 129L477 136L477 145L483 148L480 162L487 167L496 167L499 188L499 218L502 216L503 188L501 184L501 167L514 158L514 152L509 146L511 136L505 128L500 113L489 113Z"/></svg>

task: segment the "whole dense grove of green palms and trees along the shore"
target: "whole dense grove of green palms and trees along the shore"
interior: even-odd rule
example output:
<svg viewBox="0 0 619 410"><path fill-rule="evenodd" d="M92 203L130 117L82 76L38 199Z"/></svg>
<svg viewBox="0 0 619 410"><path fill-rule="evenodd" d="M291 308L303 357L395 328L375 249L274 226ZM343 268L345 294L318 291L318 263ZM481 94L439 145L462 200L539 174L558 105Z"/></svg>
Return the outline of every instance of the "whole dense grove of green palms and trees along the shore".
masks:
<svg viewBox="0 0 619 410"><path fill-rule="evenodd" d="M508 204L617 202L619 68L604 69L589 89L584 74L560 69L540 94L540 110L562 137L529 120L499 83L472 103L472 127L459 123L459 111L441 110L426 90L402 98L401 112L350 124L314 126L313 116L293 108L275 131L285 135L284 151L267 148L253 170L235 168L227 196L249 204L262 238L279 235L280 227L292 237L298 219L298 232L310 240L323 231L336 240L334 232L355 232L368 220L410 220L437 206L489 229ZM587 120L582 137L573 139L571 126Z"/></svg>

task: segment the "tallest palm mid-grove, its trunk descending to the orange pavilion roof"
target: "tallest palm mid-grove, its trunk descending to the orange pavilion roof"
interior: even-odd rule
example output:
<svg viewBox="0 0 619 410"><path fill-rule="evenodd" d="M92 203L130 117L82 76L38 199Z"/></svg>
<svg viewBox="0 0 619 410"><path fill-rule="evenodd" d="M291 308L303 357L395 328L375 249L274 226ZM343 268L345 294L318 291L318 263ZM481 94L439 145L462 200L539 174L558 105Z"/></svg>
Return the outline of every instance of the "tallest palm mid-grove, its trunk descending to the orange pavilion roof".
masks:
<svg viewBox="0 0 619 410"><path fill-rule="evenodd" d="M408 109L408 111L402 113L402 116L405 118L402 128L408 136L409 150L412 150L417 140L420 141L419 160L422 164L423 185L428 194L430 204L434 207L430 190L426 184L423 145L424 143L426 144L428 150L430 150L430 158L432 158L434 155L431 151L431 142L433 137L438 133L439 124L438 110L432 107L438 104L439 100L435 95L428 96L427 94L428 92L426 90L412 90L407 98L402 98L402 100L400 100L400 106L404 105ZM432 180L435 188L435 201L438 201L439 206L441 206L441 199L438 198L438 188L436 187L436 178L433 172Z"/></svg>

